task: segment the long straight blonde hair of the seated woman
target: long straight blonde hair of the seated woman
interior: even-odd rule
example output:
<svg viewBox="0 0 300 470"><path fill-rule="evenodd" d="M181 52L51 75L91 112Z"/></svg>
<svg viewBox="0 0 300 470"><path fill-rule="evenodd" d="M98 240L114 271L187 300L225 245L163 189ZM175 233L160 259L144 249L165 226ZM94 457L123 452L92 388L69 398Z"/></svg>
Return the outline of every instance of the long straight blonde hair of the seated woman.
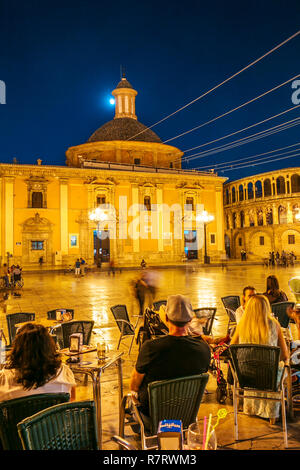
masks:
<svg viewBox="0 0 300 470"><path fill-rule="evenodd" d="M239 322L239 343L268 344L270 337L270 302L264 295L253 295Z"/></svg>

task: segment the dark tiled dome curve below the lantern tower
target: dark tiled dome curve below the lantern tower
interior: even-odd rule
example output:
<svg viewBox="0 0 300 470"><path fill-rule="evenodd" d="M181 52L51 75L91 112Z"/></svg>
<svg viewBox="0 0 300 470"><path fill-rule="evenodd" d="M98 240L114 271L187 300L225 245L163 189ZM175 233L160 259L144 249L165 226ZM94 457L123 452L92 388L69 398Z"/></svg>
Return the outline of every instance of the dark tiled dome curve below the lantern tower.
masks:
<svg viewBox="0 0 300 470"><path fill-rule="evenodd" d="M99 127L89 138L88 142L103 142L108 140L127 140L139 142L156 142L161 144L162 141L151 129L147 129L144 124L132 118L115 118ZM142 132L145 131L145 132ZM142 132L139 134L139 132ZM139 135L136 135L139 134Z"/></svg>

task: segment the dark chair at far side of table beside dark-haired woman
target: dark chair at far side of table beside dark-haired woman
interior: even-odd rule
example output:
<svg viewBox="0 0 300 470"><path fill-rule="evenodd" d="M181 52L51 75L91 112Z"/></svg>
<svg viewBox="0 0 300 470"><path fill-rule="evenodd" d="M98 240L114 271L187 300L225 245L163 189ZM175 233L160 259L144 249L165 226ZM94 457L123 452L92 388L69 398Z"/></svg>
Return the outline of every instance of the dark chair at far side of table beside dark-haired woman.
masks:
<svg viewBox="0 0 300 470"><path fill-rule="evenodd" d="M53 328L52 333L57 336L60 348L68 348L70 346L70 335L73 333L83 334L83 344L90 344L94 321L92 320L73 320L61 323Z"/></svg>

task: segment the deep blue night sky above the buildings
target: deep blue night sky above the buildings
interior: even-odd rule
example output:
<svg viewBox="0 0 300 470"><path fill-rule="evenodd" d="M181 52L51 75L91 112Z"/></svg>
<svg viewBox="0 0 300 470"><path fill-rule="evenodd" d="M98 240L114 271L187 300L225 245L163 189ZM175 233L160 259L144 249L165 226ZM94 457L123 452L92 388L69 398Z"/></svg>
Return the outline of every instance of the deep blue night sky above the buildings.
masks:
<svg viewBox="0 0 300 470"><path fill-rule="evenodd" d="M68 147L113 119L120 65L151 126L300 30L297 0L0 3L0 162L65 165ZM196 127L300 73L300 35L237 78L153 127L162 141ZM299 77L300 79L300 77ZM295 107L291 82L215 123L168 142L183 151ZM299 93L300 98L300 93ZM198 152L300 117L300 108ZM300 142L300 126L193 159L213 167ZM300 146L295 146L295 149ZM189 151L186 155L194 155ZM280 152L279 152L280 153ZM300 150L299 150L300 153ZM253 161L255 158L249 159ZM219 172L230 180L300 166L300 156Z"/></svg>

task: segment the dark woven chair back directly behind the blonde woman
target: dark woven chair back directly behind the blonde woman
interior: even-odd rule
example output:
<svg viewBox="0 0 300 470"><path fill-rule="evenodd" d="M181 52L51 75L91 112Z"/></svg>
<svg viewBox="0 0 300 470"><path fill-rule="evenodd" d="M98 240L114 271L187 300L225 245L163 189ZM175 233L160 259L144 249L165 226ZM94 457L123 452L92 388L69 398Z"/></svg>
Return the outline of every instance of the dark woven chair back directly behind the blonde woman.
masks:
<svg viewBox="0 0 300 470"><path fill-rule="evenodd" d="M278 391L280 348L258 344L232 344L232 365L241 388Z"/></svg>

